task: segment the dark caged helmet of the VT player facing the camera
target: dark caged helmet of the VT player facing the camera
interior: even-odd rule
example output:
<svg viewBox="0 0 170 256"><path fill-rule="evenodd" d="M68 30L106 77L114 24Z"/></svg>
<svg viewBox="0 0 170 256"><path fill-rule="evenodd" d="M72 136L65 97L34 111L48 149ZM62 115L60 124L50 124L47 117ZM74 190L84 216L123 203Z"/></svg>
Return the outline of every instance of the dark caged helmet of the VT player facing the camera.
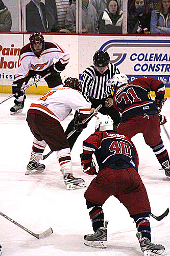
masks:
<svg viewBox="0 0 170 256"><path fill-rule="evenodd" d="M29 37L29 40L30 40L30 43L31 43L31 49L32 51L34 52L34 54L36 56L40 56L41 53L43 52L43 50L45 49L45 42L44 42L44 37L43 35L41 34L41 32L33 32L31 33L30 37ZM34 44L40 44L42 43L42 48L40 51L36 51L34 49Z"/></svg>

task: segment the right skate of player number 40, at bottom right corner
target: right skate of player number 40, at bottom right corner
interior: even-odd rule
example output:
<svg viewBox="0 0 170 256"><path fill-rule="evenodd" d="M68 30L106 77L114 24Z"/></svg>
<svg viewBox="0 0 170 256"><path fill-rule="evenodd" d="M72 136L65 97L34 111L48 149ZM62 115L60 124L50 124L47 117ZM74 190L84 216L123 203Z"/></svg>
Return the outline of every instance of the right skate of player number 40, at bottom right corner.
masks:
<svg viewBox="0 0 170 256"><path fill-rule="evenodd" d="M166 255L165 247L161 244L153 244L148 238L141 238L141 233L137 232L136 237L139 240L140 248L144 256L163 256Z"/></svg>

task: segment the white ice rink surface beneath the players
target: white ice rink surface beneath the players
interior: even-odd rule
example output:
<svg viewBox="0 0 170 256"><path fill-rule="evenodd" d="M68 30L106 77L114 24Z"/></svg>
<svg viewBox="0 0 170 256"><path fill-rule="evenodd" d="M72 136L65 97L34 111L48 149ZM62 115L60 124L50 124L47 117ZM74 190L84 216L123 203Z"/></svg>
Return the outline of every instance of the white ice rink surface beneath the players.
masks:
<svg viewBox="0 0 170 256"><path fill-rule="evenodd" d="M0 94L0 101L9 94ZM10 115L13 100L0 104L0 211L35 233L52 227L54 233L38 240L25 230L0 216L0 244L3 255L11 256L140 256L143 255L136 234L136 226L127 209L113 196L103 206L108 224L106 249L96 249L83 244L84 234L93 233L85 199L85 188L66 190L56 154L41 161L46 168L39 175L25 175L30 160L33 135L26 122L28 108L38 95L27 95L22 113ZM170 98L165 102L161 114L166 116L166 130L170 134ZM73 115L69 115L62 126L64 130ZM89 122L71 151L74 176L81 177L87 186L93 176L82 172L80 154L82 142L94 132L95 118ZM170 155L170 144L161 127L161 137ZM139 174L147 188L152 213L161 215L170 207L170 179L160 170L151 148L144 143L141 134L134 142L139 155ZM45 148L44 154L50 151ZM170 214L162 221L150 217L153 243L161 243L170 255Z"/></svg>

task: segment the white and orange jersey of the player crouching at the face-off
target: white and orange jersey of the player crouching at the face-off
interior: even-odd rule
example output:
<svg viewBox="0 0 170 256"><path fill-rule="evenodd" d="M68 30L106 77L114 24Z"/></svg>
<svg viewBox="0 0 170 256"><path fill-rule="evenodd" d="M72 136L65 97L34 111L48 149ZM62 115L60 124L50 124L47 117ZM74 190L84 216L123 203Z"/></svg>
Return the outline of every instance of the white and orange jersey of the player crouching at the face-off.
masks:
<svg viewBox="0 0 170 256"><path fill-rule="evenodd" d="M41 98L33 102L28 112L37 113L53 121L64 120L71 109L77 110L82 118L90 115L91 103L83 95L68 87L48 91ZM51 119L52 118L52 119Z"/></svg>

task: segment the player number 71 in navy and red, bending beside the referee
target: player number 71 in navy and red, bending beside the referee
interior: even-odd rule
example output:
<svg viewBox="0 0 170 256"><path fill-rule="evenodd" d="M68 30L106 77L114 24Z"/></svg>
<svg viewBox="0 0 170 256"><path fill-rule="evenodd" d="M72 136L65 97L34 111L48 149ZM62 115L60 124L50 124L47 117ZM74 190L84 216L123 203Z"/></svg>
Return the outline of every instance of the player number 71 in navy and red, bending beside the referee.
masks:
<svg viewBox="0 0 170 256"><path fill-rule="evenodd" d="M111 86L114 89L114 107L122 113L118 134L124 134L130 139L137 133L142 133L144 141L155 153L159 163L170 177L169 157L160 136L158 117L166 98L165 86L155 78L138 78L128 83L125 74L113 76ZM150 99L150 91L155 92L155 101ZM162 116L161 116L162 117Z"/></svg>

